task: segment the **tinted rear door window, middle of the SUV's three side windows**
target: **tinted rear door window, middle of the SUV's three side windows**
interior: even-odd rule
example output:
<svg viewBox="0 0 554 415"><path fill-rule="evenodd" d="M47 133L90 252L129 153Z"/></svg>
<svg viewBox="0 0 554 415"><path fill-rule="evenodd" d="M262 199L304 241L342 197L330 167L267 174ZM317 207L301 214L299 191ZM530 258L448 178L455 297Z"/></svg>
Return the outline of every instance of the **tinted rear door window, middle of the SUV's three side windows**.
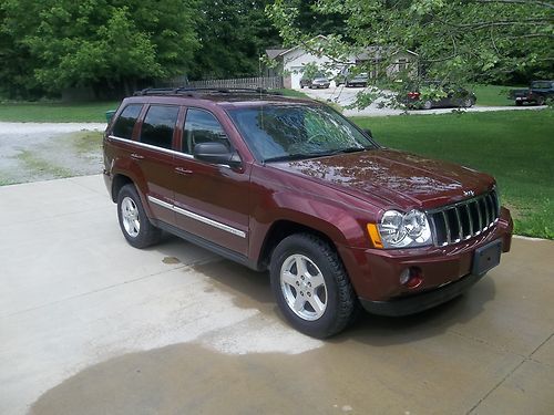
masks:
<svg viewBox="0 0 554 415"><path fill-rule="evenodd" d="M171 149L177 115L178 106L152 105L142 123L141 142Z"/></svg>

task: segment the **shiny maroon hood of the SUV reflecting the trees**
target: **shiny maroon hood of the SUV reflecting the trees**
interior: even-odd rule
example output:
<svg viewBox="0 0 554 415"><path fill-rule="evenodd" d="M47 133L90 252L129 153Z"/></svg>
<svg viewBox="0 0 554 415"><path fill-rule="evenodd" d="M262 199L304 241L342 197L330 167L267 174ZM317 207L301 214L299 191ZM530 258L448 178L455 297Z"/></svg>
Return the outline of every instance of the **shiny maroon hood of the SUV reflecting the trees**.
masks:
<svg viewBox="0 0 554 415"><path fill-rule="evenodd" d="M273 166L372 204L380 198L384 205L403 209L453 204L494 186L491 176L468 167L383 148Z"/></svg>

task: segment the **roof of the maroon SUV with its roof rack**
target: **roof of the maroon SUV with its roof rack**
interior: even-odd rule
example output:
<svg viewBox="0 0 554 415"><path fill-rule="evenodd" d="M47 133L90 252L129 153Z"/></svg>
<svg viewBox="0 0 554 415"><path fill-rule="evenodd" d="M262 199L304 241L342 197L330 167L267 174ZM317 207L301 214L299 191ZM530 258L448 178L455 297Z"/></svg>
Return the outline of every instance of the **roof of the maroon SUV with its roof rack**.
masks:
<svg viewBox="0 0 554 415"><path fill-rule="evenodd" d="M183 100L203 101L223 107L230 106L259 106L266 104L318 104L309 98L297 98L284 96L279 93L270 93L266 90L247 89L147 89L137 91L129 101L137 102L160 102L170 101L182 103Z"/></svg>

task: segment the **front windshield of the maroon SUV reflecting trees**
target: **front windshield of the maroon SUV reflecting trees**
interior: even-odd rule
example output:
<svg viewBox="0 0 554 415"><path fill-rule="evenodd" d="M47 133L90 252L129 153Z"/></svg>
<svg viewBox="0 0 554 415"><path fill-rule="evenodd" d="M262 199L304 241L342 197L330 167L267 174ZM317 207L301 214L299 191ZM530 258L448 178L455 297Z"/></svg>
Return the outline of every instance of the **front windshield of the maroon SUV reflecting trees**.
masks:
<svg viewBox="0 0 554 415"><path fill-rule="evenodd" d="M260 162L376 148L366 135L326 106L265 105L229 110L229 115Z"/></svg>

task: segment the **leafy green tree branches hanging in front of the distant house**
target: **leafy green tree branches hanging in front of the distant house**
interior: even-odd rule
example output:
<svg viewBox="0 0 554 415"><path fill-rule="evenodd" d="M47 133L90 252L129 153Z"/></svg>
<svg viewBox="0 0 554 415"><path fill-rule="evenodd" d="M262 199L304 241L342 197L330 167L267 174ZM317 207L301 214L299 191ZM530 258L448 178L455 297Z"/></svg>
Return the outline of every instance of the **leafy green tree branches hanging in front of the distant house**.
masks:
<svg viewBox="0 0 554 415"><path fill-rule="evenodd" d="M276 0L268 8L290 44L309 38L295 24L300 13L295 3ZM553 1L319 0L312 9L345 17L348 39L328 37L325 48L337 64L377 45L384 63L398 51L417 52L428 79L509 80L530 71L553 77Z"/></svg>

